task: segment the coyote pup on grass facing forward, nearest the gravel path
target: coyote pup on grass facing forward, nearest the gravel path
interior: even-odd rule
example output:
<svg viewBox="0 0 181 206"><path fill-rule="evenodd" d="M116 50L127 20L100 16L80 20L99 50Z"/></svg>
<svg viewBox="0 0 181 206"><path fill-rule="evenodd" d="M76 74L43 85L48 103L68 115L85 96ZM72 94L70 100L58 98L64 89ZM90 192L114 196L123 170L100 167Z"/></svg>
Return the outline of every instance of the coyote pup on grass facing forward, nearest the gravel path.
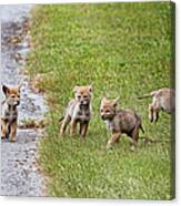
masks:
<svg viewBox="0 0 181 206"><path fill-rule="evenodd" d="M66 110L66 115L62 121L60 133L64 134L67 125L70 123L71 136L76 134L77 124L80 124L79 134L84 137L88 131L89 121L91 117L91 95L92 86L74 86L74 99L71 100Z"/></svg>

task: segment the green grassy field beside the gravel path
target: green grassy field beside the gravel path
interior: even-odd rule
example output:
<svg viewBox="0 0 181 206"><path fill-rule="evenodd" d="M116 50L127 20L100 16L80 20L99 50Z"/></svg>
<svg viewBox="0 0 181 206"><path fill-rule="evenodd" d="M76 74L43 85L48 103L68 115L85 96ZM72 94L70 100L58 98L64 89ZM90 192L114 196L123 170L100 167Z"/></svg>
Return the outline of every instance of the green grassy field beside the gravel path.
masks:
<svg viewBox="0 0 181 206"><path fill-rule="evenodd" d="M61 197L173 197L171 117L148 121L151 100L137 96L171 86L171 10L164 3L38 6L32 11L34 49L28 58L31 76L42 74L50 111L40 163L49 176L48 195ZM72 87L93 85L93 117L86 141L59 135L58 120L73 96ZM100 100L120 97L120 106L137 111L145 134L161 140L130 151L123 135L105 150L110 133L99 115Z"/></svg>

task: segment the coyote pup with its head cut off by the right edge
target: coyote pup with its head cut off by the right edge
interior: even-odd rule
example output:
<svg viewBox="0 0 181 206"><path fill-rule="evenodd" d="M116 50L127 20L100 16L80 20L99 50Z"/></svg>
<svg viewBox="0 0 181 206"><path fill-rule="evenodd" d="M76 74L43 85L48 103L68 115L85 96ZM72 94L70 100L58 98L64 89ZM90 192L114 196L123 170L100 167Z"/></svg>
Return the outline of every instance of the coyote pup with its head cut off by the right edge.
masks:
<svg viewBox="0 0 181 206"><path fill-rule="evenodd" d="M155 90L150 94L139 96L139 99L152 97L152 103L149 104L149 120L157 122L159 120L159 112L162 110L169 114L175 110L175 91L173 89L163 87Z"/></svg>

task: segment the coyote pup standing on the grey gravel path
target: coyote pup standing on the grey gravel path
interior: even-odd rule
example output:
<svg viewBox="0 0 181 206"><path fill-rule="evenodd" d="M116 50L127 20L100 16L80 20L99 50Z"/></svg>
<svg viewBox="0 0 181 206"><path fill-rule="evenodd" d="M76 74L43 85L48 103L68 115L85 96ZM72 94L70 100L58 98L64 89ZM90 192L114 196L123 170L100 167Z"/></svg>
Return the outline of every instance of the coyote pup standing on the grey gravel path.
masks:
<svg viewBox="0 0 181 206"><path fill-rule="evenodd" d="M1 137L10 137L11 142L16 142L18 109L20 104L20 86L7 87L2 85L6 100L1 103Z"/></svg>

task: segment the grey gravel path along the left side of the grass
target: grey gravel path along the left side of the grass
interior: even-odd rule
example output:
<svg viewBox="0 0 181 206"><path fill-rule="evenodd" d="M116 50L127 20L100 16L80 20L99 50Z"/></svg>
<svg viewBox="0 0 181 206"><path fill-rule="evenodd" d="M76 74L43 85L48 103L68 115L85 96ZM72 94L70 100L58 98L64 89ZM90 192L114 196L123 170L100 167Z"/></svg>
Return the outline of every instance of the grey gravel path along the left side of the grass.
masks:
<svg viewBox="0 0 181 206"><path fill-rule="evenodd" d="M13 43L24 30L32 6L1 6L1 83L22 83L19 122L42 120L48 107L43 96L33 93L22 74L30 48L28 35ZM12 38L13 37L13 38ZM21 56L17 62L16 56ZM1 141L1 195L44 196L44 178L37 166L41 130L18 130L17 142Z"/></svg>

